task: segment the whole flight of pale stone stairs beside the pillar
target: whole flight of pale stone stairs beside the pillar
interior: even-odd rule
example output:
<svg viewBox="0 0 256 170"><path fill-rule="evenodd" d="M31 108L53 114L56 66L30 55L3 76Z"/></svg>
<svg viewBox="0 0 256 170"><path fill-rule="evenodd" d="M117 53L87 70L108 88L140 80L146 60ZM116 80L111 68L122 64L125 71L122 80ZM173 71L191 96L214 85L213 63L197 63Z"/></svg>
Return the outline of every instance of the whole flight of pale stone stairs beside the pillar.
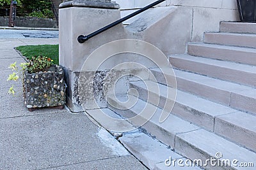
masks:
<svg viewBox="0 0 256 170"><path fill-rule="evenodd" d="M163 103L170 100L164 94L173 89L166 86L160 69L151 69L157 82L129 83L140 97L132 108L116 109L120 108L116 97L126 101L127 95L109 96L109 108L122 117L133 117L146 104L152 110L157 107L141 128L175 152L203 162L211 157L231 161L230 167L209 163L204 169L253 169L239 165L252 162L256 166L256 24L221 22L220 32L205 32L204 43L189 43L188 53L171 55L170 63L177 78L177 99L163 123L159 116ZM148 91L145 84L157 85L160 93ZM131 92L129 97L138 94ZM159 97L160 103L146 103L149 94ZM238 160L238 166L232 160ZM163 164L155 168L168 169Z"/></svg>

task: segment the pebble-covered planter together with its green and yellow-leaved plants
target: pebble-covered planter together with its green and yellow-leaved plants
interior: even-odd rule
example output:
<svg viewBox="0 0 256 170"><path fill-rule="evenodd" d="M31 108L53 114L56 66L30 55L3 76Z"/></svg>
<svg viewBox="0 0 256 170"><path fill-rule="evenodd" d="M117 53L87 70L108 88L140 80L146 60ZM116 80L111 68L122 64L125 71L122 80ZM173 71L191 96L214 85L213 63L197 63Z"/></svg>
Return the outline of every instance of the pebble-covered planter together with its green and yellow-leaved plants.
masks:
<svg viewBox="0 0 256 170"><path fill-rule="evenodd" d="M22 80L24 101L29 109L53 107L63 108L65 104L65 81L61 66L53 64L53 60L48 57L32 57L26 63L21 64L18 69L16 63L10 66L15 72L9 75L8 80ZM17 73L21 76L17 76ZM9 94L15 94L15 90L10 87Z"/></svg>

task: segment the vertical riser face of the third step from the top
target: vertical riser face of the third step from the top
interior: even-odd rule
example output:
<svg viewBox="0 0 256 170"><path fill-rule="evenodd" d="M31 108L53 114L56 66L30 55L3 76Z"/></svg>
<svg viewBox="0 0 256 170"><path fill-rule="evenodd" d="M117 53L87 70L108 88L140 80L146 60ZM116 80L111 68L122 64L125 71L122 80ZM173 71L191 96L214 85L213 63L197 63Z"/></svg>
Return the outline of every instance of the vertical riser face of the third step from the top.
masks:
<svg viewBox="0 0 256 170"><path fill-rule="evenodd" d="M219 48L211 48L209 46L189 44L188 54L207 57L211 59L229 60L233 62L239 62L243 64L250 64L250 65L256 66L256 53L254 52L229 50L229 49L223 49L223 48L219 49Z"/></svg>

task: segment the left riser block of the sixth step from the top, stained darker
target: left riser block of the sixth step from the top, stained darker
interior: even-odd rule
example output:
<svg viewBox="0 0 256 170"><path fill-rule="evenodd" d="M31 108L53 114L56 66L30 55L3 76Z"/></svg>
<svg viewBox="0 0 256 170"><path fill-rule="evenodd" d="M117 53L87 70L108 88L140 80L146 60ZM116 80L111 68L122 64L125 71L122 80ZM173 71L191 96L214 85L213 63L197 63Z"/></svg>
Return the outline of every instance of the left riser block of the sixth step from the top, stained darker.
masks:
<svg viewBox="0 0 256 170"><path fill-rule="evenodd" d="M137 87L133 84L130 84L130 87L137 89L140 99L143 101L147 101L147 97L145 94L148 93L146 89L141 89L140 87ZM136 95L136 94L131 94ZM152 93L152 95L155 95ZM154 98L157 99L157 95L154 96ZM163 103L166 101L166 98L161 96L159 105L157 106L156 103L151 103L161 109L163 109ZM182 117L182 119L187 120L188 122L193 122L193 124L200 125L204 127L205 129L209 131L214 130L214 117L211 117L210 115L207 115L206 113L203 113L198 110L194 110L193 108L190 108L188 106L184 106L184 104L179 103L179 101L176 101L173 110L173 115L177 115L178 117Z"/></svg>

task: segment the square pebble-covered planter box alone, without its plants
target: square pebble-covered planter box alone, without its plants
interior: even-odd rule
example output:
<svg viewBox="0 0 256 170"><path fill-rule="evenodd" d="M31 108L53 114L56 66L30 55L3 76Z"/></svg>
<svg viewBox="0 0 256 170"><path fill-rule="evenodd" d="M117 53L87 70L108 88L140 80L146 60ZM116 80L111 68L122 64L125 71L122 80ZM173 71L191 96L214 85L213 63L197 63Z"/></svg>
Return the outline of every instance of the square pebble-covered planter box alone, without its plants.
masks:
<svg viewBox="0 0 256 170"><path fill-rule="evenodd" d="M24 101L29 111L52 107L63 109L65 94L64 72L54 65L49 71L24 73Z"/></svg>

